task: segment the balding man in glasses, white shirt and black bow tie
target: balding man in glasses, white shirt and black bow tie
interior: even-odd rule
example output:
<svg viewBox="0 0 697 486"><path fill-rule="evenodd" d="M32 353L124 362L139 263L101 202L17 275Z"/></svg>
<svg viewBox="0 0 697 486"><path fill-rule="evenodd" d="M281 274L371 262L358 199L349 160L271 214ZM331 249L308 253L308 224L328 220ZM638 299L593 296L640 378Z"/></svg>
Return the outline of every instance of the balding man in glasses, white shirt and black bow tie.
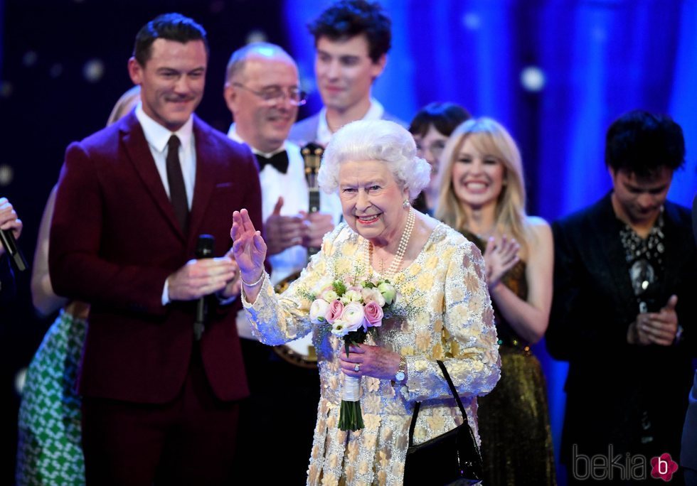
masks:
<svg viewBox="0 0 697 486"><path fill-rule="evenodd" d="M321 239L339 222L341 202L320 194L320 212L308 214L308 186L299 146L286 141L305 93L299 90L295 61L278 45L252 43L230 56L225 77L225 102L233 114L230 139L246 143L257 156L262 186L262 217L272 266L271 282L278 284L307 264L307 248L321 247ZM319 400L319 374L282 360L271 347L255 340L244 314L238 315L243 355L251 396L240 420L240 470L265 470L267 482L303 484L307 450ZM280 396L284 411L278 413ZM292 417L292 419L287 419ZM267 467L270 436L283 431L293 446L275 455ZM258 468L258 469L257 469ZM277 481L276 481L277 480Z"/></svg>

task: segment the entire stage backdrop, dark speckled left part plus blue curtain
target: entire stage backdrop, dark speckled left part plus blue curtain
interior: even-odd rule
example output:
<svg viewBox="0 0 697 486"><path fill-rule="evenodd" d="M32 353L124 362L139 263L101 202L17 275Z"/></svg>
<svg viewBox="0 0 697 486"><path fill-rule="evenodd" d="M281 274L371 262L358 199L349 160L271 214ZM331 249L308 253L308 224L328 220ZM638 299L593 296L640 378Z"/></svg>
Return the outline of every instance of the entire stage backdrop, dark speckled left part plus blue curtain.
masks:
<svg viewBox="0 0 697 486"><path fill-rule="evenodd" d="M283 45L312 91L301 116L319 109L314 46L307 23L327 0L0 0L0 195L25 223L33 254L43 204L68 143L104 124L126 90L134 35L157 13L181 11L208 30L208 86L198 113L225 130L225 63L252 39ZM393 48L374 96L409 121L423 105L452 101L499 119L523 153L528 211L547 220L610 189L605 131L630 109L671 114L686 137L686 168L669 197L690 205L697 188L697 1L382 0L393 20ZM50 319L33 314L28 278L16 305L0 309L0 379L16 406L26 367ZM8 344L11 343L11 344ZM558 446L565 365L536 352L546 367ZM14 446L14 416L4 446ZM7 425L9 424L9 425ZM11 457L0 482L11 482ZM5 467L6 466L6 467ZM560 477L561 479L561 477ZM563 482L560 482L563 484Z"/></svg>

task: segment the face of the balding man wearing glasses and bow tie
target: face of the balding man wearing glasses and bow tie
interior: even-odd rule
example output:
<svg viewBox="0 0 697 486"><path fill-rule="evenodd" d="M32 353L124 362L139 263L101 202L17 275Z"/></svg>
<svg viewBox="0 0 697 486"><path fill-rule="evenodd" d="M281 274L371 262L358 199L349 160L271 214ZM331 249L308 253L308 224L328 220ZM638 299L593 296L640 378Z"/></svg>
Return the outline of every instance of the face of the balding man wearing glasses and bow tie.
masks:
<svg viewBox="0 0 697 486"><path fill-rule="evenodd" d="M262 152L279 148L297 118L297 103L293 104L289 96L265 101L252 91L281 90L287 95L291 90L298 90L298 85L298 70L290 60L262 56L245 60L240 75L225 84L225 102L233 112L235 129L240 137Z"/></svg>

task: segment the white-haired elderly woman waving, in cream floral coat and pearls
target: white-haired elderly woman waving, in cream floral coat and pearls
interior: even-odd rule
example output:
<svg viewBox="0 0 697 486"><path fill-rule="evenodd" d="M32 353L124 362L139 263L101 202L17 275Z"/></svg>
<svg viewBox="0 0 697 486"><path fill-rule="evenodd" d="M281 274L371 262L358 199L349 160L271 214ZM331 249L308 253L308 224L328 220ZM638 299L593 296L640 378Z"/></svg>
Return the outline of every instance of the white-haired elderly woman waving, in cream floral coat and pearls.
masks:
<svg viewBox="0 0 697 486"><path fill-rule="evenodd" d="M415 443L463 421L437 360L445 363L477 436L477 396L499 379L484 261L461 234L411 207L429 175L412 136L398 124L354 121L337 131L324 153L319 185L327 193L339 191L344 222L324 237L321 252L280 296L264 270L261 233L246 210L233 215L230 233L252 332L267 345L313 333L321 398L308 485L402 484L415 403L423 402ZM312 323L310 308L327 282L351 279L390 281L397 298L392 317L347 355L344 340ZM365 425L344 431L341 399L349 378L357 377ZM282 400L292 397L280 400L282 414ZM281 447L293 447L288 441Z"/></svg>

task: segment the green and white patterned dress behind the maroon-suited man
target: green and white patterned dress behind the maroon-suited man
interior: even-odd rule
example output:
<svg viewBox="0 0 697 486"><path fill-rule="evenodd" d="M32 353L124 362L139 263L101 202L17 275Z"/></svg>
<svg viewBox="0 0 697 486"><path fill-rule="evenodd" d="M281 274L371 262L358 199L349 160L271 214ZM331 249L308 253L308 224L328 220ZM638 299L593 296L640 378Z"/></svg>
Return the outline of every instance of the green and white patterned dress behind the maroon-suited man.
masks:
<svg viewBox="0 0 697 486"><path fill-rule="evenodd" d="M60 311L31 360L19 408L17 485L85 484L75 380L86 330L85 320Z"/></svg>

